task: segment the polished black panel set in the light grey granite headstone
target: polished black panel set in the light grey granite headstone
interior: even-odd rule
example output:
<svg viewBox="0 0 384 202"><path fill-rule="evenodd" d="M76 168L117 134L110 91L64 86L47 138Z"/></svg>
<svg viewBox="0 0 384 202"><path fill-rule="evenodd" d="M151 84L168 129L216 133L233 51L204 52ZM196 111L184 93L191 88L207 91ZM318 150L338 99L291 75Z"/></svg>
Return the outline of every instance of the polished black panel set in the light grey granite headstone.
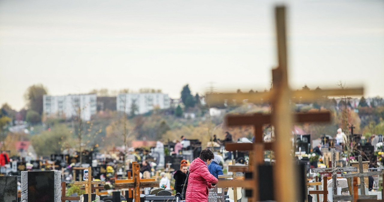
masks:
<svg viewBox="0 0 384 202"><path fill-rule="evenodd" d="M54 194L54 172L28 172L28 202L52 202Z"/></svg>

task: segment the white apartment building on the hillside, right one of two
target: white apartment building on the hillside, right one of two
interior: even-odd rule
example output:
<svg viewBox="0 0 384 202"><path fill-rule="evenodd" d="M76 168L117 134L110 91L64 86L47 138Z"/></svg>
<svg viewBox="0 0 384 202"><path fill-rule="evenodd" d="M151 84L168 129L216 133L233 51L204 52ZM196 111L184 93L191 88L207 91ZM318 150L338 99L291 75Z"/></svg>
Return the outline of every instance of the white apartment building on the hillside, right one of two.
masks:
<svg viewBox="0 0 384 202"><path fill-rule="evenodd" d="M170 98L168 94L163 93L119 94L116 99L118 112L131 113L132 103L137 107L136 114L147 113L154 108L166 109L170 107Z"/></svg>

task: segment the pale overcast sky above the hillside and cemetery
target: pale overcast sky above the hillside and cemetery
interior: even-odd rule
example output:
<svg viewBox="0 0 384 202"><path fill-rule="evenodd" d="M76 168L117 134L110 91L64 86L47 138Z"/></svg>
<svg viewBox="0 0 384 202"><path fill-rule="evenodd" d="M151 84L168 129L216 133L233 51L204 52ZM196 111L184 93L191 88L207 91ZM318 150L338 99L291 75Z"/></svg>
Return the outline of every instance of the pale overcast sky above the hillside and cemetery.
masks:
<svg viewBox="0 0 384 202"><path fill-rule="evenodd" d="M384 97L384 1L293 0L293 89L364 85ZM281 3L278 2L278 3ZM51 95L182 86L204 94L269 88L277 65L274 6L265 0L1 0L0 104L28 86Z"/></svg>

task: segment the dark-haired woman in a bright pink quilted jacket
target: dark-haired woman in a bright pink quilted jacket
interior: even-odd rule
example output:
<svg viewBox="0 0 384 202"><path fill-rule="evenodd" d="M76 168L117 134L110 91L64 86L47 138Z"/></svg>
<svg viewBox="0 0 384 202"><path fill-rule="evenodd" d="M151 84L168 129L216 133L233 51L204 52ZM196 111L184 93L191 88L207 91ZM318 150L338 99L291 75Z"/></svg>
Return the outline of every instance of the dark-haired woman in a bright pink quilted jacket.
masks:
<svg viewBox="0 0 384 202"><path fill-rule="evenodd" d="M214 158L214 153L209 149L200 152L200 157L192 161L189 166L189 177L185 202L207 202L208 189L214 188L218 180L209 173L208 165Z"/></svg>

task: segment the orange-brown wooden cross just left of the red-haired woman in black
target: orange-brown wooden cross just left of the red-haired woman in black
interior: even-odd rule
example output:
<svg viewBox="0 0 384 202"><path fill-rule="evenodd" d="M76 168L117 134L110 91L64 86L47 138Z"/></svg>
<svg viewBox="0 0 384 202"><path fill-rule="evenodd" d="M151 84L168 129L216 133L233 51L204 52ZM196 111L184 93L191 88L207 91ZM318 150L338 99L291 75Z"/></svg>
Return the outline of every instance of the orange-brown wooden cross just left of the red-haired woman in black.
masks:
<svg viewBox="0 0 384 202"><path fill-rule="evenodd" d="M140 164L132 163L133 179L116 180L115 185L118 189L133 188L134 200L140 201L140 187L158 187L159 182L154 179L140 179Z"/></svg>

